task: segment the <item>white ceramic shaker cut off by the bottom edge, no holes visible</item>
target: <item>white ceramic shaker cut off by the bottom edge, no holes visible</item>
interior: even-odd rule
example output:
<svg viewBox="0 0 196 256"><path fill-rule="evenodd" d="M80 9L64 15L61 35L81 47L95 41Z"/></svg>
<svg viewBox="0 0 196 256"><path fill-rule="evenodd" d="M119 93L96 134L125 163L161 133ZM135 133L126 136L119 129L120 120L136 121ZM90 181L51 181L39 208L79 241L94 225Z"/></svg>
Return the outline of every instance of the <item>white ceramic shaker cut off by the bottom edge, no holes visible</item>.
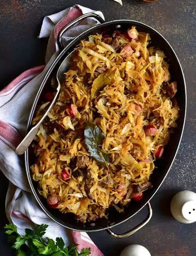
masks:
<svg viewBox="0 0 196 256"><path fill-rule="evenodd" d="M129 245L122 250L120 256L151 256L151 254L142 245Z"/></svg>

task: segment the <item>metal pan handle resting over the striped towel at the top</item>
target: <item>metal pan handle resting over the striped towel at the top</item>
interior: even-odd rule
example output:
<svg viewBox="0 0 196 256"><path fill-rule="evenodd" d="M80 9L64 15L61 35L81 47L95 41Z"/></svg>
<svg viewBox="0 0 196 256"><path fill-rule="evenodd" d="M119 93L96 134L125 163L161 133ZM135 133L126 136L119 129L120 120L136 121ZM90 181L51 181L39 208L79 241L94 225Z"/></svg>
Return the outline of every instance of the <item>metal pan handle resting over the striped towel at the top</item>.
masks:
<svg viewBox="0 0 196 256"><path fill-rule="evenodd" d="M105 21L102 19L102 17L100 17L98 14L96 13L86 13L76 19L74 19L73 21L71 21L69 24L67 24L66 26L64 26L64 28L62 28L62 30L59 32L58 34L58 38L57 38L57 43L58 43L58 47L63 49L64 46L62 44L62 35L65 33L65 31L67 31L69 28L71 28L74 24L80 22L80 20L89 18L89 17L93 17L95 19L97 19L100 23L104 23Z"/></svg>

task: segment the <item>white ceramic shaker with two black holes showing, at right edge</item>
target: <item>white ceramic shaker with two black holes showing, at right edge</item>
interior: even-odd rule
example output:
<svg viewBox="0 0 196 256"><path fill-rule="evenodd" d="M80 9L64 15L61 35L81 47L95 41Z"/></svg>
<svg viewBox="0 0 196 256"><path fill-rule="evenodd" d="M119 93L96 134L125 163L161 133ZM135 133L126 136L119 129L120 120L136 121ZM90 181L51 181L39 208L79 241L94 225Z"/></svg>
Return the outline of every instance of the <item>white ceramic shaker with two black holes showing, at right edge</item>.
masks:
<svg viewBox="0 0 196 256"><path fill-rule="evenodd" d="M170 210L173 217L181 223L193 223L196 221L196 193L181 191L171 200Z"/></svg>

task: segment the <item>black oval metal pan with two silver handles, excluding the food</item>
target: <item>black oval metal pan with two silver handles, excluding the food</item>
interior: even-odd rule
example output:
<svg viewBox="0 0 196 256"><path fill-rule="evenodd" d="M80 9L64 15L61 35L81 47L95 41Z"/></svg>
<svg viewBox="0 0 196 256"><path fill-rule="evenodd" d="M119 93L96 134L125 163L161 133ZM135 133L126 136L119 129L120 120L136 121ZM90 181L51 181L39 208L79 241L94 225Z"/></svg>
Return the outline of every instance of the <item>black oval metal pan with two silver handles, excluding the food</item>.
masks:
<svg viewBox="0 0 196 256"><path fill-rule="evenodd" d="M163 158L160 160L157 160L155 162L155 165L158 167L154 170L154 172L151 175L151 183L152 183L152 189L147 190L144 193L144 197L139 202L131 202L131 204L125 208L125 211L123 213L118 213L115 208L109 208L108 210L108 219L97 219L96 221L87 222L85 224L76 221L74 219L73 214L71 213L60 213L60 211L51 209L47 206L47 202L42 197L38 191L37 186L38 183L33 181L33 178L31 176L30 166L34 163L34 156L31 152L31 148L27 149L25 152L25 167L27 171L27 176L29 180L29 184L31 186L31 189L33 191L33 194L38 201L40 207L45 211L45 213L51 217L54 221L61 224L62 226L65 226L66 228L70 228L73 230L78 231L85 231L85 232L93 232L93 231L100 231L100 230L107 230L109 234L111 234L113 237L125 237L133 234L138 229L142 228L152 217L152 209L150 206L149 201L154 196L156 191L159 189L163 181L165 180L165 177L167 176L171 165L174 161L174 158L176 156L178 147L180 145L181 136L183 133L184 123L185 123L185 114L186 114L186 87L185 87L185 79L183 76L183 71L181 69L180 62L172 49L171 45L167 42L167 40L156 30L151 28L150 26L147 26L141 22L137 22L134 20L114 20L110 22L104 22L102 18L100 18L98 15L94 13L87 13L80 18L74 20L70 24L64 27L64 29L60 32L58 37L58 43L60 47L62 48L62 34L73 24L76 24L82 19L85 19L87 17L94 17L100 21L101 24L94 26L93 28L90 28L89 30L83 32L81 35L76 37L69 45L67 45L62 52L58 55L58 57L55 59L51 67L49 68L42 85L40 87L40 90L38 91L38 95L36 96L36 99L34 101L34 104L31 109L31 113L29 115L29 121L28 121L28 130L31 128L31 122L34 116L34 113L36 111L36 106L40 99L42 98L42 91L47 91L47 87L49 87L49 81L51 77L55 74L56 70L62 63L62 61L65 59L65 57L76 48L76 46L79 44L79 42L82 39L88 39L89 35L94 35L96 33L103 33L103 34L111 34L114 30L122 30L125 31L128 28L130 28L132 25L136 26L136 29L139 32L145 32L149 33L152 41L152 45L160 48L164 51L165 55L167 56L167 60L170 64L170 73L172 76L172 80L178 82L178 92L176 94L176 98L178 101L178 105L180 107L180 118L178 119L178 128L175 129L175 133L172 135L172 139L169 141L167 146L165 147ZM116 226L120 223L123 223L124 221L127 221L130 219L133 215L138 213L145 205L148 207L148 216L147 218L141 223L140 225L136 226L136 228L130 230L129 232L126 232L125 234L117 235L114 234L111 231L111 228L113 226Z"/></svg>

